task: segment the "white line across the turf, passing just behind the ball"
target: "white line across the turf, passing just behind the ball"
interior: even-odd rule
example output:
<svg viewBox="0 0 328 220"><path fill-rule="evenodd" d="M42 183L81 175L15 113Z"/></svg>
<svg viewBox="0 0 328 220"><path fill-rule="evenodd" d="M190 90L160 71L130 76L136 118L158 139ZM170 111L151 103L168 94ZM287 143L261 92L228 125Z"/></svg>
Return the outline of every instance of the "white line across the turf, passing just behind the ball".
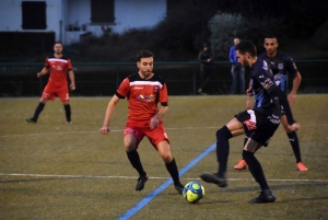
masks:
<svg viewBox="0 0 328 220"><path fill-rule="evenodd" d="M32 174L32 173L0 173L0 176L32 176L32 177L58 177L58 178L138 178L138 176L106 176L106 175L51 175L51 174ZM169 180L168 177L149 177L154 180ZM181 178L181 180L200 180L195 178ZM229 181L254 181L254 178L227 178ZM267 181L276 182L328 182L328 180L298 180L298 178L269 178Z"/></svg>

